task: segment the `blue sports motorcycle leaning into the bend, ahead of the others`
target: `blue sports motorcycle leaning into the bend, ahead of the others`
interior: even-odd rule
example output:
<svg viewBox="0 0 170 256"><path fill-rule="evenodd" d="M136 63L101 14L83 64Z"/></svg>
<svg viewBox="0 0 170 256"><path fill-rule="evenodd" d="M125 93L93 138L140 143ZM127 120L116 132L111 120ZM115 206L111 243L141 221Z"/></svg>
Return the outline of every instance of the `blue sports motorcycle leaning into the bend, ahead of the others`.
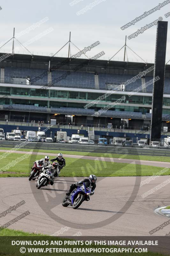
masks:
<svg viewBox="0 0 170 256"><path fill-rule="evenodd" d="M72 206L73 209L77 209L83 201L89 200L91 193L91 182L84 182L82 186L75 188L69 196L65 196L62 202L64 207Z"/></svg>

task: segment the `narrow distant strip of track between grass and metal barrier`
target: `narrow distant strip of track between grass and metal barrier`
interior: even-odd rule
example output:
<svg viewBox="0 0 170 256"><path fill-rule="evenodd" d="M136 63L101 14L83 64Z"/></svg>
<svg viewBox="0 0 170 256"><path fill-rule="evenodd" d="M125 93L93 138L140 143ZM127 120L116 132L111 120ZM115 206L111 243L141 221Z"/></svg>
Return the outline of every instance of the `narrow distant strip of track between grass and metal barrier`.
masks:
<svg viewBox="0 0 170 256"><path fill-rule="evenodd" d="M0 149L0 152L7 152L9 150ZM13 153L18 154L29 154L30 155L48 155L55 156L52 153L41 153L41 152L32 152L32 151L14 151ZM137 159L124 159L124 158L114 158L114 157L99 157L99 156L80 156L80 155L67 155L63 154L64 157L77 158L77 159L87 159L87 160L96 160L96 161L105 161L105 162L115 162L115 163L126 163L126 164L142 164L142 165L151 165L158 167L168 167L170 163L168 162L155 162L155 161L147 161L147 160L137 160ZM105 155L105 154L104 154ZM108 155L108 154L106 154Z"/></svg>

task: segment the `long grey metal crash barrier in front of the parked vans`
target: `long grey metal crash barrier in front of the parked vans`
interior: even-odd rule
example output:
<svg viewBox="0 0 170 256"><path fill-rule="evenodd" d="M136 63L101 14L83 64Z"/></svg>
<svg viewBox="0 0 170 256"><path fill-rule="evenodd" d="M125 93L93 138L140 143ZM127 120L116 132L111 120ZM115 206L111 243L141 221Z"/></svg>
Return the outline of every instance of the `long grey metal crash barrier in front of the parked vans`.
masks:
<svg viewBox="0 0 170 256"><path fill-rule="evenodd" d="M16 145L20 145L23 142L18 141L0 141L0 148L4 147L14 148ZM83 145L72 143L47 143L47 142L25 142L24 148L30 149L54 149L56 153L61 150L69 151L83 151L83 152L99 152L99 153L119 153L119 154L132 154L132 155L151 155L151 156L170 156L170 148L167 147L139 147L139 146L101 146L101 145ZM19 147L18 149L19 150ZM44 151L46 152L46 151Z"/></svg>

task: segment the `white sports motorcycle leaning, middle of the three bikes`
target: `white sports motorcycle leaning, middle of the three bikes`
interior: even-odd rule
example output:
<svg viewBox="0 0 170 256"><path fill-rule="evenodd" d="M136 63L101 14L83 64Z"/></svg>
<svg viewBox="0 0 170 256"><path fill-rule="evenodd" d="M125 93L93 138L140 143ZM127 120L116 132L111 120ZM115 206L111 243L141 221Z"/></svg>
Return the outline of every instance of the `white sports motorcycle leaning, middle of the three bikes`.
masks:
<svg viewBox="0 0 170 256"><path fill-rule="evenodd" d="M47 170L43 170L38 176L36 187L40 189L41 187L48 186L49 184L54 184L54 174Z"/></svg>

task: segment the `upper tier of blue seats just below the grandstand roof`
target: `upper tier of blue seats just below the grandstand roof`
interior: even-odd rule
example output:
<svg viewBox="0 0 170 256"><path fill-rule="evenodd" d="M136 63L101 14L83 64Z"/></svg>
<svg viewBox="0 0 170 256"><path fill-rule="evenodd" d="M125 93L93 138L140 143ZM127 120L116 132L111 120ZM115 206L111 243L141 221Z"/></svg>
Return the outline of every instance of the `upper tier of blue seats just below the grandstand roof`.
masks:
<svg viewBox="0 0 170 256"><path fill-rule="evenodd" d="M43 76L41 76L43 74ZM12 78L30 78L31 84L46 85L48 84L48 72L46 69L37 68L17 68L5 67L4 68L4 82L12 83ZM133 78L132 75L123 74L103 74L99 73L99 89L107 90L107 84L120 85ZM52 70L51 78L53 85L72 88L95 88L94 73L82 71L65 71L65 70ZM153 79L152 76L145 76L145 82ZM23 83L23 82L22 82ZM137 79L125 86L125 91L134 91L142 85L142 80ZM140 90L141 91L141 90ZM139 92L140 92L139 91ZM146 92L153 92L153 84L146 87ZM164 93L170 93L170 78L165 78Z"/></svg>

